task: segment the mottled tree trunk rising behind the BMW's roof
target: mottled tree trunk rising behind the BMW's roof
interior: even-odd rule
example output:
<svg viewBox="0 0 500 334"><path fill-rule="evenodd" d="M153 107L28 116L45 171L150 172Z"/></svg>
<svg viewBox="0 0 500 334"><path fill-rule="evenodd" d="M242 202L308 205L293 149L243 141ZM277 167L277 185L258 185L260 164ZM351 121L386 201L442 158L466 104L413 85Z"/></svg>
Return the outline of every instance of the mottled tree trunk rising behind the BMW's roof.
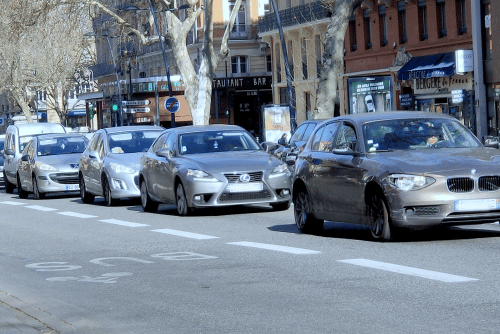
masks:
<svg viewBox="0 0 500 334"><path fill-rule="evenodd" d="M363 0L326 0L332 16L325 35L325 49L316 92L314 118L333 117L337 87L344 73L344 38L353 11Z"/></svg>

